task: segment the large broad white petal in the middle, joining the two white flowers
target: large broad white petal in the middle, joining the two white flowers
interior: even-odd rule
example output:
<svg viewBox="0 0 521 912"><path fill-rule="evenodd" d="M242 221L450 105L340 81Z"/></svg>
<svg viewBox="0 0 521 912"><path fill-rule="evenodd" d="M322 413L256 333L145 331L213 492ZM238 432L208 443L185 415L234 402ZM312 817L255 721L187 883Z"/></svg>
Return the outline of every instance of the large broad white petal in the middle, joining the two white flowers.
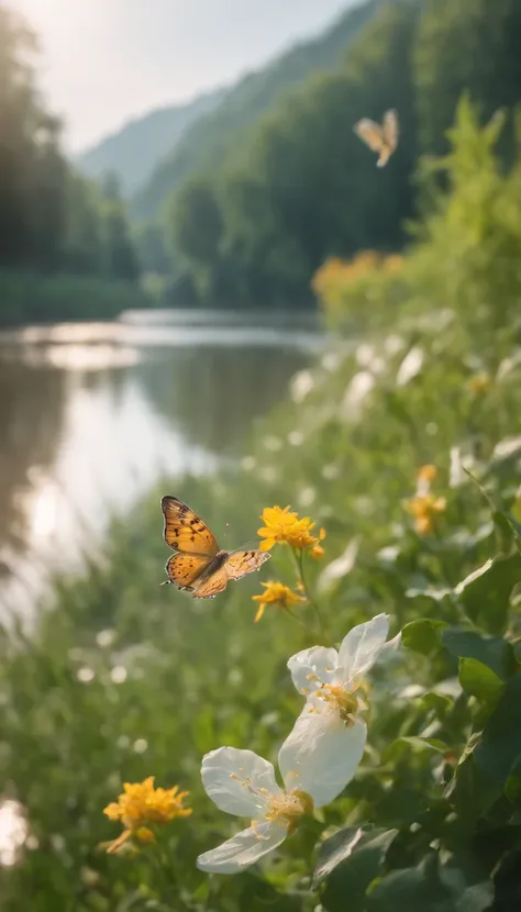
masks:
<svg viewBox="0 0 521 912"><path fill-rule="evenodd" d="M315 808L329 804L353 779L366 738L359 719L347 727L336 712L303 711L278 755L286 789L308 792Z"/></svg>

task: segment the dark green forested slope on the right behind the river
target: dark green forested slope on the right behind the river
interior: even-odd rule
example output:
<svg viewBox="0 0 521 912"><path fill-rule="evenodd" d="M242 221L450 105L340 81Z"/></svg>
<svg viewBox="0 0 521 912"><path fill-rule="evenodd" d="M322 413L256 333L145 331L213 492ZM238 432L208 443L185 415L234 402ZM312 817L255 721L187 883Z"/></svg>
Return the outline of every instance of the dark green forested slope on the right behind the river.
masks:
<svg viewBox="0 0 521 912"><path fill-rule="evenodd" d="M286 92L247 131L234 123L226 136L223 123L219 156L176 188L165 233L185 303L311 304L310 279L326 257L403 246L407 220L422 203L419 156L447 149L463 91L483 119L521 101L520 0L391 0L367 9L341 65ZM388 108L399 111L401 141L378 171L353 124ZM211 116L215 133L219 110ZM509 152L507 135L506 158ZM157 225L143 237L151 256L164 255Z"/></svg>

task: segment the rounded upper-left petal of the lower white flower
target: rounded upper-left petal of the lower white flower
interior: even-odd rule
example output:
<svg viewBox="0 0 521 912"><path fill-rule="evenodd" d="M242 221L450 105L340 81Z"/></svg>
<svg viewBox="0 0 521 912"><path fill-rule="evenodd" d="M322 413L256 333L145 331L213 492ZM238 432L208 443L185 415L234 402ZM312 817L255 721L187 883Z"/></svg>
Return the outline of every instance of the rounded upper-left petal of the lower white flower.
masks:
<svg viewBox="0 0 521 912"><path fill-rule="evenodd" d="M271 794L280 792L271 764L253 750L236 747L219 747L206 754L201 779L207 794L221 811L251 820Z"/></svg>

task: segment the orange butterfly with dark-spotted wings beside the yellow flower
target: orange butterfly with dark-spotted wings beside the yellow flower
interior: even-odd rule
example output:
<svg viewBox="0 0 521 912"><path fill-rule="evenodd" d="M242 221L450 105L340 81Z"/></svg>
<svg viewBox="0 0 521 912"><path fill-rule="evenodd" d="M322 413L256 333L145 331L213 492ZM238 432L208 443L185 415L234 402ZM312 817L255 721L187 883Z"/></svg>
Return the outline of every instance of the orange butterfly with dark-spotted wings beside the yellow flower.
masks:
<svg viewBox="0 0 521 912"><path fill-rule="evenodd" d="M213 599L229 580L258 570L271 557L262 550L221 550L200 516L176 497L162 498L163 537L176 552L166 565L167 582L192 592L193 599Z"/></svg>

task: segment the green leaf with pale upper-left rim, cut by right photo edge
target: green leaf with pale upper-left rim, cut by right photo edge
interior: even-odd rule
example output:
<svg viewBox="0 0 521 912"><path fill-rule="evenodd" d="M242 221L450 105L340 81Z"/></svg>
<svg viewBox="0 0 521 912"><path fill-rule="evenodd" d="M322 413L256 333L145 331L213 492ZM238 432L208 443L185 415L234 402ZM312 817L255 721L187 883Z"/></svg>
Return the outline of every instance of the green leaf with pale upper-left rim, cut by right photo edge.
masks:
<svg viewBox="0 0 521 912"><path fill-rule="evenodd" d="M505 629L510 596L521 581L521 554L498 555L469 574L454 592L468 616L490 633Z"/></svg>

